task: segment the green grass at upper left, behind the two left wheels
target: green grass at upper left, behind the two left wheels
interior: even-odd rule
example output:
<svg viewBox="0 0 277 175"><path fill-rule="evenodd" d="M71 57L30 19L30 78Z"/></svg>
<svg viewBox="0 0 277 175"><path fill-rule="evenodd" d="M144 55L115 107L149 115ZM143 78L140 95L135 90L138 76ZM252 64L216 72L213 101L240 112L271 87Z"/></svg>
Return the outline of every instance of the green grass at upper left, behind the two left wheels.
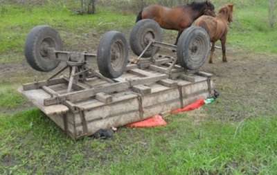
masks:
<svg viewBox="0 0 277 175"><path fill-rule="evenodd" d="M49 25L58 30L67 46L70 43L66 43L66 37L70 33L78 33L80 37L85 37L86 33L96 30L102 35L113 28L125 30L134 23L133 15L114 15L111 10L101 8L98 11L94 15L77 15L59 3L57 6L47 3L34 8L6 5L0 9L0 53L5 53L0 63L19 61L24 51L26 35L31 28L38 25ZM17 55L10 53L11 50Z"/></svg>

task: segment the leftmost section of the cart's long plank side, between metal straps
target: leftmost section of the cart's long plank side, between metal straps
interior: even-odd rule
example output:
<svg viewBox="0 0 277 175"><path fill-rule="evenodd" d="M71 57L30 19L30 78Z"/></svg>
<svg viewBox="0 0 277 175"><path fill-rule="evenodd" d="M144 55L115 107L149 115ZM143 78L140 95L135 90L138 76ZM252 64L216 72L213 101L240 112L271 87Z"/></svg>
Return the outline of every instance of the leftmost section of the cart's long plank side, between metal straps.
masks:
<svg viewBox="0 0 277 175"><path fill-rule="evenodd" d="M84 111L85 123L82 122L81 113L75 113L75 133L80 136L91 135L98 129L108 129L111 127L122 127L131 122L143 120L139 111L139 99L132 98L92 110ZM84 133L84 125L87 125L87 133Z"/></svg>

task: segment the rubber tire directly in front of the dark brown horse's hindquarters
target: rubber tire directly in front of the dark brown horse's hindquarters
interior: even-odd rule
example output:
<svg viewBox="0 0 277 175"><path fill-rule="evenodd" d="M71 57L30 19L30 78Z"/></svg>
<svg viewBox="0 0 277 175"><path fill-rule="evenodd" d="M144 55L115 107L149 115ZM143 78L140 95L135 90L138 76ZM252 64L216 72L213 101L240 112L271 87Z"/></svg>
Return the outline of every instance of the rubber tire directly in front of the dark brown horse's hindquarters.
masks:
<svg viewBox="0 0 277 175"><path fill-rule="evenodd" d="M156 42L162 42L163 35L159 24L152 19L142 19L138 21L130 32L129 44L133 53L137 56L143 53L148 46L149 39L154 39ZM151 57L158 53L159 47L150 46L142 57Z"/></svg>

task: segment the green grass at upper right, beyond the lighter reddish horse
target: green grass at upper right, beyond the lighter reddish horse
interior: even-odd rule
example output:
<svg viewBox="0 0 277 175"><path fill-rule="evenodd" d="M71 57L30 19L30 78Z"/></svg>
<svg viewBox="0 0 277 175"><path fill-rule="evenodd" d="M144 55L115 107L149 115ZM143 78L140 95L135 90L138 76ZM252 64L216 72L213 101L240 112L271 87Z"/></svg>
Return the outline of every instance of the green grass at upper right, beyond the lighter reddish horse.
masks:
<svg viewBox="0 0 277 175"><path fill-rule="evenodd" d="M277 53L277 26L269 27L267 8L235 8L227 42L253 52Z"/></svg>

